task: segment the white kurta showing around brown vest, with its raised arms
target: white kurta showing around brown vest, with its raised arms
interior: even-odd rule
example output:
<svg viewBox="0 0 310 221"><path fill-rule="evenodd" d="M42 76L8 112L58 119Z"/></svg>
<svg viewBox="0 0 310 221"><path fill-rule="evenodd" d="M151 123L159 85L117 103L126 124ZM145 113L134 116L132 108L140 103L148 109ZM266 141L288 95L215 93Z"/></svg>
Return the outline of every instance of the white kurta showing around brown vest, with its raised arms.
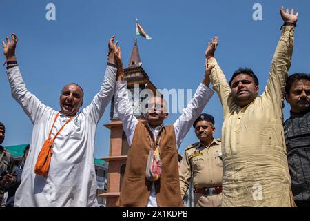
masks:
<svg viewBox="0 0 310 221"><path fill-rule="evenodd" d="M118 73L123 73L123 64L121 62L121 58L116 57L116 66L118 66ZM205 67L205 76L203 78L202 83L198 86L196 93L192 100L187 104L187 107L183 110L182 115L174 122L174 133L176 136L176 148L180 147L185 135L187 135L189 129L191 128L194 121L197 119L198 115L203 111L207 102L211 99L214 91L209 88L209 73L211 73L211 68ZM138 119L134 116L132 104L130 102L130 98L127 94L127 81L124 81L123 74L118 74L118 79L116 80L115 86L115 101L114 106L115 110L118 113L118 117L123 122L123 130L127 136L127 141L129 146L132 146L132 142L134 139L134 132L136 130L136 126L138 124ZM154 97L153 97L154 99ZM152 100L152 99L150 99ZM155 97L156 100L156 97ZM152 102L149 106L152 105ZM159 114L161 115L161 114ZM166 115L167 117L167 115ZM161 124L158 126L154 126L151 124L151 120L148 117L148 113L145 114L145 119L147 119L147 124L154 134L155 139L157 139L158 132L163 126L163 120L165 117L161 118ZM158 203L156 200L156 190L154 183L152 184L152 190L149 195L149 199L147 201L147 207L157 207Z"/></svg>

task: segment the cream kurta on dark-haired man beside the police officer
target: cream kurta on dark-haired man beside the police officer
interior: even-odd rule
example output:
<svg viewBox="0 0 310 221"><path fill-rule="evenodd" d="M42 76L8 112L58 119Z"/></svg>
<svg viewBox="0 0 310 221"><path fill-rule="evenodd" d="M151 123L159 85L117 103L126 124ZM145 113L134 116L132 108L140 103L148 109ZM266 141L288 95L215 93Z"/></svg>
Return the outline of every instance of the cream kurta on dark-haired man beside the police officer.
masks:
<svg viewBox="0 0 310 221"><path fill-rule="evenodd" d="M216 59L211 83L223 105L222 206L294 206L283 132L282 102L294 28L285 26L264 93L240 108Z"/></svg>

